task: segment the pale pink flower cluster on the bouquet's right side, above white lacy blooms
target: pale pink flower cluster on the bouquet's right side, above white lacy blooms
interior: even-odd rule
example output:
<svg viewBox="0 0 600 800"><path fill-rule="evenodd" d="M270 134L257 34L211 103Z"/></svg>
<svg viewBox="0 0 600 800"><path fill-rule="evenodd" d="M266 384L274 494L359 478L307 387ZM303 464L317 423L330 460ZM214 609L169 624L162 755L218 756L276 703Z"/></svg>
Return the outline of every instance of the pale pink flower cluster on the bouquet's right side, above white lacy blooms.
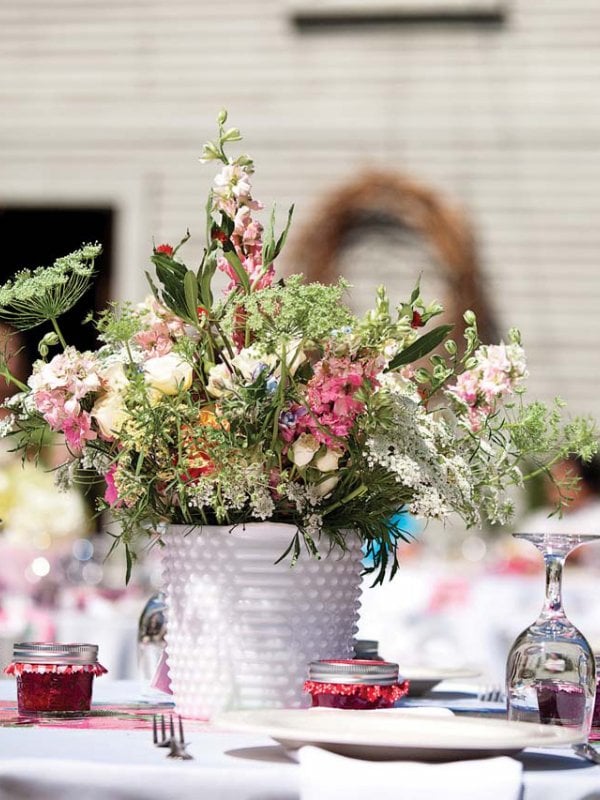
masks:
<svg viewBox="0 0 600 800"><path fill-rule="evenodd" d="M448 389L465 410L473 432L481 430L498 403L527 377L525 352L519 344L484 345L476 351L475 360L475 366Z"/></svg>

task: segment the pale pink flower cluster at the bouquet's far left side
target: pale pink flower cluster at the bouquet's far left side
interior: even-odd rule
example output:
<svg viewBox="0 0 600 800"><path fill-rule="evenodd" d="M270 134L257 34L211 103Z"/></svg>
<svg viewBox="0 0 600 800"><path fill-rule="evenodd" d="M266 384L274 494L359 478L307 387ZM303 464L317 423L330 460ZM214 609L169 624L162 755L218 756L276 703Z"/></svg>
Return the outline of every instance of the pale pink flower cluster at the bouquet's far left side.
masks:
<svg viewBox="0 0 600 800"><path fill-rule="evenodd" d="M86 441L96 439L91 417L81 406L102 385L100 365L92 353L67 347L48 363L37 361L28 383L36 409L52 430L64 433L71 450L80 452Z"/></svg>

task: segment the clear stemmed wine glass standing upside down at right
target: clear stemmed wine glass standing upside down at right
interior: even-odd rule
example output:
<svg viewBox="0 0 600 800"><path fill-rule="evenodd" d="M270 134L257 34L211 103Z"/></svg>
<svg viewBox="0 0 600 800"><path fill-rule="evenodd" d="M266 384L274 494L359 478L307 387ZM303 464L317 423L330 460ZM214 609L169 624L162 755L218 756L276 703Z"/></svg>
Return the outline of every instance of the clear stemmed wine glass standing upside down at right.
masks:
<svg viewBox="0 0 600 800"><path fill-rule="evenodd" d="M517 533L534 544L546 565L546 596L539 617L515 640L506 664L508 718L563 725L587 740L596 695L594 655L562 606L562 572L575 547L600 535Z"/></svg>

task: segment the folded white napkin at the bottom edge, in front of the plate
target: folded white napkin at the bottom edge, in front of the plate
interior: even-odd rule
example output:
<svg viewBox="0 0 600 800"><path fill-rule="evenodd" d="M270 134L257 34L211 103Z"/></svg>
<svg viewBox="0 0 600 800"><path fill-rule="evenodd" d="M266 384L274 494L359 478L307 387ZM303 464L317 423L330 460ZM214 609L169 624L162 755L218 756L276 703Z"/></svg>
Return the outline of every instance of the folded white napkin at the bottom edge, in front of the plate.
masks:
<svg viewBox="0 0 600 800"><path fill-rule="evenodd" d="M506 756L422 764L363 761L302 747L301 800L518 800L522 766Z"/></svg>

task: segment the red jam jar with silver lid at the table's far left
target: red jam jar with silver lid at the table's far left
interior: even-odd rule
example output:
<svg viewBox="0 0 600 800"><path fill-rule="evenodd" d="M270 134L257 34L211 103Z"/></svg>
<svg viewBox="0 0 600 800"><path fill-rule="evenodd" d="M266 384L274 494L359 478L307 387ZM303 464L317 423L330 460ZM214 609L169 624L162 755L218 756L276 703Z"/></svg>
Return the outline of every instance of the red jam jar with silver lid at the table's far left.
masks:
<svg viewBox="0 0 600 800"><path fill-rule="evenodd" d="M94 676L106 670L95 644L20 642L4 672L17 679L20 716L69 717L90 711Z"/></svg>

